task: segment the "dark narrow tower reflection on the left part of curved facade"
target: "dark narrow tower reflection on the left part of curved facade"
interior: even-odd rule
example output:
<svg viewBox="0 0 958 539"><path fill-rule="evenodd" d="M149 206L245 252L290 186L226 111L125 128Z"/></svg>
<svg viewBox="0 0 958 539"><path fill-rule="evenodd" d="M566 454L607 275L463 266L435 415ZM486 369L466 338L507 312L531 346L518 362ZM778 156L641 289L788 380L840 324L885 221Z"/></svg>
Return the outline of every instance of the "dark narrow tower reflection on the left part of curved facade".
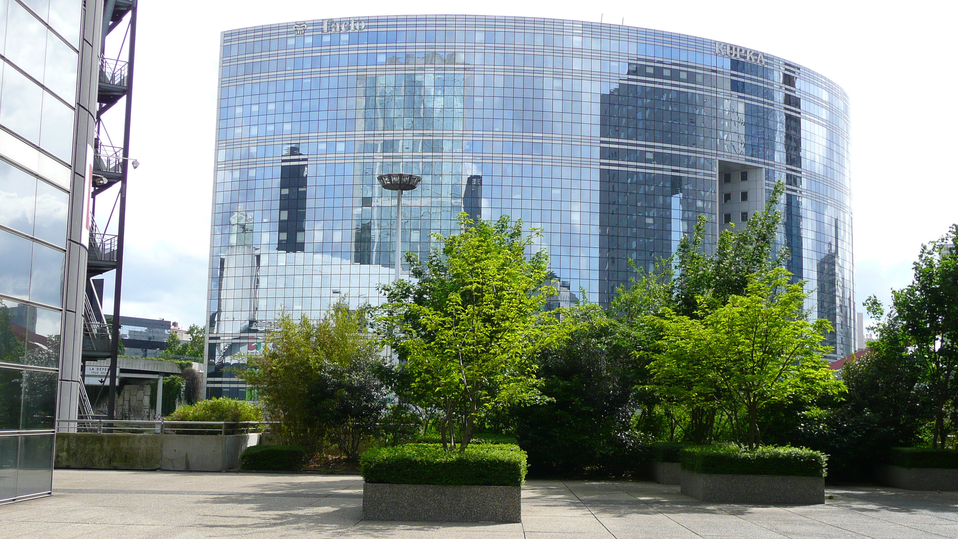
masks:
<svg viewBox="0 0 958 539"><path fill-rule="evenodd" d="M280 165L279 237L276 250L306 250L307 175L307 158L301 156L299 146L285 148Z"/></svg>

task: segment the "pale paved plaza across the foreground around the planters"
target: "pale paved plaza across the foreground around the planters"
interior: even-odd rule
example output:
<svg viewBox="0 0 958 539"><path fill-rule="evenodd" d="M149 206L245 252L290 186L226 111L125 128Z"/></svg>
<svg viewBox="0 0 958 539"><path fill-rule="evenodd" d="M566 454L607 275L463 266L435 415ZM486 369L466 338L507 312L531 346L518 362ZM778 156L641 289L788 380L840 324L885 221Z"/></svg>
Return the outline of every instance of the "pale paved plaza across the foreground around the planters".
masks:
<svg viewBox="0 0 958 539"><path fill-rule="evenodd" d="M530 480L521 524L363 521L358 476L57 470L54 496L0 506L0 536L958 538L958 493L835 487L824 505L704 504L648 481Z"/></svg>

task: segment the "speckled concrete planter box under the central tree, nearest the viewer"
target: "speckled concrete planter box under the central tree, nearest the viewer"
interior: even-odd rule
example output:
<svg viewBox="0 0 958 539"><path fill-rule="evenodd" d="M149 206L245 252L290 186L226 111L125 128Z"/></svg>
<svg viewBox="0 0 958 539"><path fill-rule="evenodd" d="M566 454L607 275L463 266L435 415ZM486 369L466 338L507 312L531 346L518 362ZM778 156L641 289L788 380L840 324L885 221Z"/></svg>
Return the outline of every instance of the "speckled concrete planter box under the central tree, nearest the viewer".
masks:
<svg viewBox="0 0 958 539"><path fill-rule="evenodd" d="M367 482L362 518L431 522L522 522L522 487Z"/></svg>

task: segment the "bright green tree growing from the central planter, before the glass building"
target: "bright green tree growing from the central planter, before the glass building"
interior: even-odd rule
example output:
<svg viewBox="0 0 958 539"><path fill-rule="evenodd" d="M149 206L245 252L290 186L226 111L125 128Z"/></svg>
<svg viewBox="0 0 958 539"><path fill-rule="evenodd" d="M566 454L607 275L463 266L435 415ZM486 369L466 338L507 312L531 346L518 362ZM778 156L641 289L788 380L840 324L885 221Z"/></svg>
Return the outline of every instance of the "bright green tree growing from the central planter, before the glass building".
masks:
<svg viewBox="0 0 958 539"><path fill-rule="evenodd" d="M441 410L445 447L466 451L477 422L511 405L535 401L536 354L557 332L543 315L548 256L526 256L540 236L503 216L473 223L460 214L458 235L443 238L422 264L406 259L415 282L382 287L389 302L376 318L380 335L399 352L403 393L424 409ZM458 434L458 438L457 438Z"/></svg>

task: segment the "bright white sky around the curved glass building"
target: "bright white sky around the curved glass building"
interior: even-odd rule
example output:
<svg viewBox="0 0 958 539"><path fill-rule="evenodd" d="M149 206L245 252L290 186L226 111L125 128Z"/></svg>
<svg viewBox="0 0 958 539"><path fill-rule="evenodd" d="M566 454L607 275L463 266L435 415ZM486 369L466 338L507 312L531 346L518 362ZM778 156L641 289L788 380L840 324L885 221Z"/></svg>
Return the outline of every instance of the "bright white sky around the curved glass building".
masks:
<svg viewBox="0 0 958 539"><path fill-rule="evenodd" d="M127 195L122 312L189 325L205 316L219 33L318 18L448 13L466 4L148 0L140 6L130 155L141 165ZM921 244L958 222L950 166L958 143L953 2L491 0L468 6L469 14L613 23L625 17L629 26L789 59L843 86L852 106L858 301L872 293L887 300L891 288L906 285Z"/></svg>

